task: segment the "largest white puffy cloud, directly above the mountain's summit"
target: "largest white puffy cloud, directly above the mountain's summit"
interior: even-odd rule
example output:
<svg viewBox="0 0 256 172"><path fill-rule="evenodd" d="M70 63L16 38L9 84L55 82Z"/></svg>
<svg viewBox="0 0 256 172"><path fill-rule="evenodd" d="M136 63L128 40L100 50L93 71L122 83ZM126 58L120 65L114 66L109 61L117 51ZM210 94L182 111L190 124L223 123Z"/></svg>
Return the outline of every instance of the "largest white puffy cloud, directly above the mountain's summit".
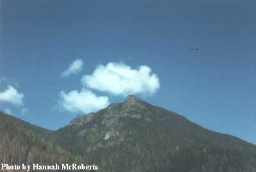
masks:
<svg viewBox="0 0 256 172"><path fill-rule="evenodd" d="M157 74L151 74L149 66L132 69L123 63L98 65L92 75L84 75L83 86L114 95L144 93L152 95L160 88Z"/></svg>

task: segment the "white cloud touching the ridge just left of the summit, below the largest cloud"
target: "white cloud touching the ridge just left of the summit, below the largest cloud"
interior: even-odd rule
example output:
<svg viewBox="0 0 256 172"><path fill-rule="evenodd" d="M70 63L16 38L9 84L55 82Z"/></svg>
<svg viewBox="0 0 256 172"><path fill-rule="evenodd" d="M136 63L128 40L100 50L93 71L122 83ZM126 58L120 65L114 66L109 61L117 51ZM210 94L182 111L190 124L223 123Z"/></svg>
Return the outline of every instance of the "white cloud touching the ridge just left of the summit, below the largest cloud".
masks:
<svg viewBox="0 0 256 172"><path fill-rule="evenodd" d="M71 113L91 113L107 107L108 104L108 97L98 97L90 90L60 92L60 106Z"/></svg>

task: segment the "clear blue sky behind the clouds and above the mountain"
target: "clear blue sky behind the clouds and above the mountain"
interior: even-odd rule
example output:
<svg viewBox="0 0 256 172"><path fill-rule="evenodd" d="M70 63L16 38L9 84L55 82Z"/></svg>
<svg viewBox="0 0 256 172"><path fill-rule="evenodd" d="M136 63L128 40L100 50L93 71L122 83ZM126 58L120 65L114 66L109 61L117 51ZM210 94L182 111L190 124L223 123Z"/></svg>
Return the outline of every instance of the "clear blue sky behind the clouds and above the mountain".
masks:
<svg viewBox="0 0 256 172"><path fill-rule="evenodd" d="M203 127L256 144L255 9L253 0L3 0L1 109L58 129L79 114L60 107L72 90L74 97L81 92L96 95L96 101L107 97L98 107L123 101L127 91L81 82L84 75L94 77L98 65L108 70L109 63L122 64L139 80L145 78L139 67L148 66L145 75L156 75L160 87L153 85L151 93L126 89ZM80 70L62 77L76 59L83 62ZM8 89L16 102L4 100Z"/></svg>

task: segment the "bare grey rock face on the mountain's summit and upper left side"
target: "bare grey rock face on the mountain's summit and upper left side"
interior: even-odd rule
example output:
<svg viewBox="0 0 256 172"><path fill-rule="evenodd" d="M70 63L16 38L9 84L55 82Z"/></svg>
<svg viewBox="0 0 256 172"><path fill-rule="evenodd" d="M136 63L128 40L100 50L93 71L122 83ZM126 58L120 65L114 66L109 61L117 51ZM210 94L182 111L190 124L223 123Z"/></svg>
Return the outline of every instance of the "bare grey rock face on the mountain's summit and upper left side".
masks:
<svg viewBox="0 0 256 172"><path fill-rule="evenodd" d="M148 104L135 95L126 97L123 103L110 104L97 113L80 115L68 127L75 130L74 136L80 143L88 144L86 152L99 148L120 145L126 140L124 130L126 121L144 120L152 122L152 113L147 109Z"/></svg>

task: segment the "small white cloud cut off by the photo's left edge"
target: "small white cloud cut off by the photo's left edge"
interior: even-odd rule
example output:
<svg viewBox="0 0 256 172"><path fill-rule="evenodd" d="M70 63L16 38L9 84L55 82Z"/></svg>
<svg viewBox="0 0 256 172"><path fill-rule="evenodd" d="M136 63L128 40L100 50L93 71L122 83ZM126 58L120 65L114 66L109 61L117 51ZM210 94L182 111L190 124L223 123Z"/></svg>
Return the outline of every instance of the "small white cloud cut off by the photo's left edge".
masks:
<svg viewBox="0 0 256 172"><path fill-rule="evenodd" d="M0 92L0 102L8 102L13 105L22 106L23 105L24 94L19 93L13 86L7 86L7 89Z"/></svg>

